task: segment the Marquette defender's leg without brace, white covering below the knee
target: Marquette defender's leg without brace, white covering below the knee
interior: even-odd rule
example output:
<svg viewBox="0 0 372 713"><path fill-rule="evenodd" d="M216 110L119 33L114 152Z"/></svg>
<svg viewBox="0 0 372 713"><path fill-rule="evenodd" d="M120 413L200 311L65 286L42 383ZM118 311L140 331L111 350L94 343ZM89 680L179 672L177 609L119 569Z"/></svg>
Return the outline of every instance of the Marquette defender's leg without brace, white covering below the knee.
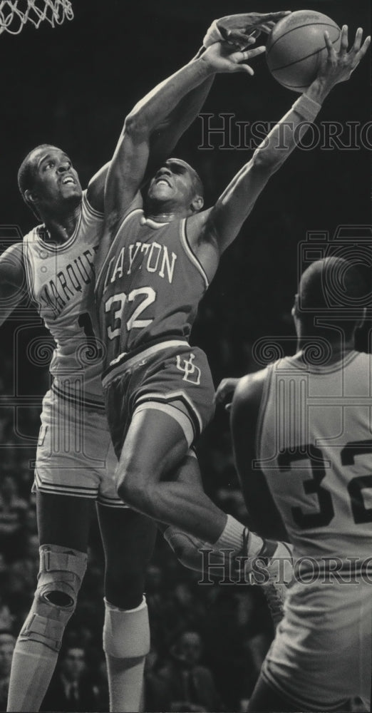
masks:
<svg viewBox="0 0 372 713"><path fill-rule="evenodd" d="M129 508L101 504L98 520L105 550L103 648L110 711L135 712L140 709L145 656L150 650L143 591L157 528L153 520Z"/></svg>

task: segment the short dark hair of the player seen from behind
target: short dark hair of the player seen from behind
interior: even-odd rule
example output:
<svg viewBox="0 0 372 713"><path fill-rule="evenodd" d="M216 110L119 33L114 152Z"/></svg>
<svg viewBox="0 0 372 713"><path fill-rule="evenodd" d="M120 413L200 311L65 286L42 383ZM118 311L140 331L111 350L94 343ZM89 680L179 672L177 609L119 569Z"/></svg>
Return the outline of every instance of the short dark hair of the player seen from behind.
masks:
<svg viewBox="0 0 372 713"><path fill-rule="evenodd" d="M296 316L309 328L314 326L315 316L329 310L332 322L350 335L362 316L366 292L366 282L355 262L324 257L301 275Z"/></svg>

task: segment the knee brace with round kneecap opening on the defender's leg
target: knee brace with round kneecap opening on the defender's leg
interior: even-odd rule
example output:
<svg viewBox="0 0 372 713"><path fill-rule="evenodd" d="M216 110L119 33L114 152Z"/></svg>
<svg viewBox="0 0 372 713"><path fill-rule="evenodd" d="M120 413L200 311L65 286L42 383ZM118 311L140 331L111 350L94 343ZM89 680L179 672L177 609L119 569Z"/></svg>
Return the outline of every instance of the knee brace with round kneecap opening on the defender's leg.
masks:
<svg viewBox="0 0 372 713"><path fill-rule="evenodd" d="M59 651L67 622L76 609L88 555L58 545L41 545L39 552L38 586L19 637Z"/></svg>

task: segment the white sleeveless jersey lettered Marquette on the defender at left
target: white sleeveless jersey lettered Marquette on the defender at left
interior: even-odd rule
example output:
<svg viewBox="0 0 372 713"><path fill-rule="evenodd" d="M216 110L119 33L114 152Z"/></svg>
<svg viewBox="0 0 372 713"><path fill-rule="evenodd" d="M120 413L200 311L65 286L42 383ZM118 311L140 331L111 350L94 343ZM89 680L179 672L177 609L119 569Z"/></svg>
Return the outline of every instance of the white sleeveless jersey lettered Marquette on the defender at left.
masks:
<svg viewBox="0 0 372 713"><path fill-rule="evenodd" d="M103 401L93 297L94 260L102 230L103 214L91 207L84 191L81 215L66 242L43 240L42 225L24 237L29 292L56 342L50 364L53 388L78 395L91 406Z"/></svg>

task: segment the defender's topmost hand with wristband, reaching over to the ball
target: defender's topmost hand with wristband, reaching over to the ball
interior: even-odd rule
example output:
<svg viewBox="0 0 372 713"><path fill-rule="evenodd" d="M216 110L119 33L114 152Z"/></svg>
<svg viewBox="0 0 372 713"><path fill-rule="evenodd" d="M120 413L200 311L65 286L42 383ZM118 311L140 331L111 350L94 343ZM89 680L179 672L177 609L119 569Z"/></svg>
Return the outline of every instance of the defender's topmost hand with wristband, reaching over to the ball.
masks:
<svg viewBox="0 0 372 713"><path fill-rule="evenodd" d="M273 27L286 15L288 11L281 12L248 12L237 15L227 15L215 20L207 31L203 44L209 47L212 43L222 39L233 44L239 49L245 49L249 44L252 34L256 37L265 32L269 34Z"/></svg>

